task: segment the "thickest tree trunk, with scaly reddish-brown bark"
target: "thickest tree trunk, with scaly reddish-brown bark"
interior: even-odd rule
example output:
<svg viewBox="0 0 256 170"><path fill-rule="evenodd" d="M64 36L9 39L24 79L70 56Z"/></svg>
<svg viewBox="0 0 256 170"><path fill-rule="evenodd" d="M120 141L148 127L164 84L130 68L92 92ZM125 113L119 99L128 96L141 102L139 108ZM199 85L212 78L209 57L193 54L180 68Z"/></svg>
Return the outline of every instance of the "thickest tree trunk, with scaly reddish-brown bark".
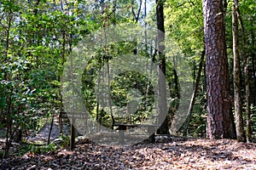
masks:
<svg viewBox="0 0 256 170"><path fill-rule="evenodd" d="M207 138L234 139L223 2L203 0L203 15L207 55Z"/></svg>

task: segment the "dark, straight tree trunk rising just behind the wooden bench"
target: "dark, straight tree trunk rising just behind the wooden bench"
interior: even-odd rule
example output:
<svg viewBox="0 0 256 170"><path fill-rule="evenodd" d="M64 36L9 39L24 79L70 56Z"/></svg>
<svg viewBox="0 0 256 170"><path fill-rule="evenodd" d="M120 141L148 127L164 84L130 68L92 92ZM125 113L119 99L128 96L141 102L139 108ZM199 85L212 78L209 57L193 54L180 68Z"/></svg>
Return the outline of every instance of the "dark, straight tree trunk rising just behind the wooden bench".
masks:
<svg viewBox="0 0 256 170"><path fill-rule="evenodd" d="M165 23L164 23L164 4L162 0L156 0L156 23L158 29L157 48L159 56L159 79L158 79L158 113L159 121L163 122L157 133L168 134L168 116L166 102L166 57L165 50Z"/></svg>

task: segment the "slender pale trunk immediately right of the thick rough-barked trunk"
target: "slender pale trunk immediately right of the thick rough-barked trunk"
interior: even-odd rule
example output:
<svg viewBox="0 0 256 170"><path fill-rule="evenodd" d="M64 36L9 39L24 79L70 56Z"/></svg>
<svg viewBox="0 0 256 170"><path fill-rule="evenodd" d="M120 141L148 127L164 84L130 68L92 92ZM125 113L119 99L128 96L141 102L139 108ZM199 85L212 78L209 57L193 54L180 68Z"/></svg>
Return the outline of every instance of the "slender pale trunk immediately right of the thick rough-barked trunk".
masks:
<svg viewBox="0 0 256 170"><path fill-rule="evenodd" d="M242 123L242 105L241 105L241 68L238 44L238 20L236 15L236 7L238 1L234 1L232 6L232 34L233 34L233 55L234 55L234 101L236 116L236 139L244 141L243 123Z"/></svg>

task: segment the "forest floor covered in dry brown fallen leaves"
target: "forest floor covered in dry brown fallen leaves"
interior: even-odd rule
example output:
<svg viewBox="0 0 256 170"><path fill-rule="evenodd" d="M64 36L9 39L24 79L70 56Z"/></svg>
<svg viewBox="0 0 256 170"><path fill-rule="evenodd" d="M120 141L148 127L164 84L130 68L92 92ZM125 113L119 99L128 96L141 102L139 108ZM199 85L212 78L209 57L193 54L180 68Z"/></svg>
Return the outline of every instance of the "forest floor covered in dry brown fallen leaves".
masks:
<svg viewBox="0 0 256 170"><path fill-rule="evenodd" d="M76 144L0 161L0 169L256 169L256 144L221 139L158 139L127 146Z"/></svg>

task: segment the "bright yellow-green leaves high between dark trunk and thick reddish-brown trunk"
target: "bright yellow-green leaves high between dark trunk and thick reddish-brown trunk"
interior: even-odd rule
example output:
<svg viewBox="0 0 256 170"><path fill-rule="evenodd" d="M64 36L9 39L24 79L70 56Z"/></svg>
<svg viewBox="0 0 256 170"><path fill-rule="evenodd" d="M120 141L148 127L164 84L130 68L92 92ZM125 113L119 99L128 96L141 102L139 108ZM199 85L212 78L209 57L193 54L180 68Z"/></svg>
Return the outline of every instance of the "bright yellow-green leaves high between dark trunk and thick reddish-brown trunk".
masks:
<svg viewBox="0 0 256 170"><path fill-rule="evenodd" d="M198 53L204 48L201 1L167 1L165 14L167 37L175 40L183 54L199 59Z"/></svg>

